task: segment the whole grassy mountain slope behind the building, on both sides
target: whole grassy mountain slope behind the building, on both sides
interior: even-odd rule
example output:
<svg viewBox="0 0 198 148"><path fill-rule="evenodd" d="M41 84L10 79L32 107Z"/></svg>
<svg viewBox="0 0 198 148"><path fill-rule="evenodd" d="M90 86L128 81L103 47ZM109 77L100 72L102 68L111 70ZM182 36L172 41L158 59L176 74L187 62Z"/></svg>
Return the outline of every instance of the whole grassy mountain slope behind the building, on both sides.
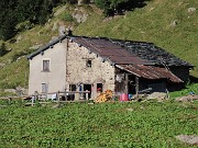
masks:
<svg viewBox="0 0 198 148"><path fill-rule="evenodd" d="M69 20L68 14L74 13L75 9L88 14L86 22L77 23ZM1 89L28 87L29 61L25 55L34 52L34 47L48 43L52 36L57 36L58 27L54 29L56 24L73 27L75 35L155 43L195 65L191 75L198 77L197 0L152 0L142 9L108 19L105 19L101 11L94 5L64 5L57 8L54 14L55 16L44 26L34 26L18 34L14 38L21 39L16 43L7 43L7 48L11 48L11 52L0 57Z"/></svg>

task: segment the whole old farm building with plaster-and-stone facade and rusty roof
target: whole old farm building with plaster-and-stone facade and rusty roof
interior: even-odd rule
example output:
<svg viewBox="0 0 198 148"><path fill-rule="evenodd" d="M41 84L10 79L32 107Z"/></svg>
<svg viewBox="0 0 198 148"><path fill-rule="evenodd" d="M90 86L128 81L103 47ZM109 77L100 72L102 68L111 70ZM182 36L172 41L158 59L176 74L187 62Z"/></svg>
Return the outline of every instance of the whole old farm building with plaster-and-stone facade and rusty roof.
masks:
<svg viewBox="0 0 198 148"><path fill-rule="evenodd" d="M98 89L116 94L175 90L194 67L152 43L74 35L59 36L28 59L29 94L88 90L92 99Z"/></svg>

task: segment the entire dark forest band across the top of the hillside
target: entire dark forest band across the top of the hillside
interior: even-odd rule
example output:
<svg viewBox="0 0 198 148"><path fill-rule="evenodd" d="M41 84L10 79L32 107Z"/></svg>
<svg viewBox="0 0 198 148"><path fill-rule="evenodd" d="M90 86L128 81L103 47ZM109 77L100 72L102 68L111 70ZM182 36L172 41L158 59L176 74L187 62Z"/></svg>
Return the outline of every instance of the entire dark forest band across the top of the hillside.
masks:
<svg viewBox="0 0 198 148"><path fill-rule="evenodd" d="M53 16L53 8L66 3L94 3L109 16L144 7L145 0L0 0L0 39L8 41L34 24L45 24Z"/></svg>

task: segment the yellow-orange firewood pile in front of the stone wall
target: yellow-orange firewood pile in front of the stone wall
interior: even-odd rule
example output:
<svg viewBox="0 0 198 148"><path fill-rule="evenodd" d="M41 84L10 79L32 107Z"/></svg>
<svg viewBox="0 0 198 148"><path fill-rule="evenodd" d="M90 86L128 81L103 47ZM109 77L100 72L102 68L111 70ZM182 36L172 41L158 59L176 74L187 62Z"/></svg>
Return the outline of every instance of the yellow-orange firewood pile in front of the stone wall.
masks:
<svg viewBox="0 0 198 148"><path fill-rule="evenodd" d="M107 90L103 93L100 93L97 99L96 99L96 103L102 103L102 102L107 102L109 100L112 99L112 91L111 90Z"/></svg>

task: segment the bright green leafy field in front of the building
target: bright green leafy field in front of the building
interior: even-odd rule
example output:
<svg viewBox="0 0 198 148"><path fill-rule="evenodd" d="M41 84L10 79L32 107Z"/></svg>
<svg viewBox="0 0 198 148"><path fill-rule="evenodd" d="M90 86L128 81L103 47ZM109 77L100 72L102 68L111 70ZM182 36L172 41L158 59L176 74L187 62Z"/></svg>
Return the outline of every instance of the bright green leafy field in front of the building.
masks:
<svg viewBox="0 0 198 148"><path fill-rule="evenodd" d="M175 136L198 135L198 102L70 103L56 109L6 104L0 106L3 148L196 147Z"/></svg>

